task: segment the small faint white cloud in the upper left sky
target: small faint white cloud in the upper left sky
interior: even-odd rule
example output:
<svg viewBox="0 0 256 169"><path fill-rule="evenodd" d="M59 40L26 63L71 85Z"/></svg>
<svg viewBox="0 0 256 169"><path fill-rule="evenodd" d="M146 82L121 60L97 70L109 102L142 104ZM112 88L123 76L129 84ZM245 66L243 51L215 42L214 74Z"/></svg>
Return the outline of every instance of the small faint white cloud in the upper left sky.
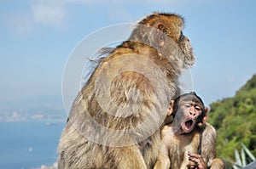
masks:
<svg viewBox="0 0 256 169"><path fill-rule="evenodd" d="M32 20L45 25L61 25L67 14L65 7L59 1L32 4Z"/></svg>

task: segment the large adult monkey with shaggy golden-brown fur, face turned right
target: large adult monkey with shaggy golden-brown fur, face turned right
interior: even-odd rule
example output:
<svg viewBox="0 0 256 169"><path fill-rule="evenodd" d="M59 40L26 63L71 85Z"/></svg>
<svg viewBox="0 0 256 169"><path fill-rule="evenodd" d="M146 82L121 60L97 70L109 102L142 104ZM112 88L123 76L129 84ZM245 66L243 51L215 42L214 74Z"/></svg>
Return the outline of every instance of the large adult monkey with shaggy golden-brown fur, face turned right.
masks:
<svg viewBox="0 0 256 169"><path fill-rule="evenodd" d="M84 49L86 50L86 49ZM74 100L59 168L153 168L178 76L195 65L177 14L148 15L103 58ZM149 139L147 149L140 143Z"/></svg>

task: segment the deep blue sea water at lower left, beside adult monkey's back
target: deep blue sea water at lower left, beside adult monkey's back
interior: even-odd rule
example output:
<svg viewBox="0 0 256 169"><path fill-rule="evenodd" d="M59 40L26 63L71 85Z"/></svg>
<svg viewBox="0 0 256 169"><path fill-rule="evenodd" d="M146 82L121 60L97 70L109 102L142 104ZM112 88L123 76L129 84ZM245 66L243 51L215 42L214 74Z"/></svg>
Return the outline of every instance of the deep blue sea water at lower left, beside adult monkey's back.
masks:
<svg viewBox="0 0 256 169"><path fill-rule="evenodd" d="M0 122L0 168L21 169L52 165L65 123L50 121Z"/></svg>

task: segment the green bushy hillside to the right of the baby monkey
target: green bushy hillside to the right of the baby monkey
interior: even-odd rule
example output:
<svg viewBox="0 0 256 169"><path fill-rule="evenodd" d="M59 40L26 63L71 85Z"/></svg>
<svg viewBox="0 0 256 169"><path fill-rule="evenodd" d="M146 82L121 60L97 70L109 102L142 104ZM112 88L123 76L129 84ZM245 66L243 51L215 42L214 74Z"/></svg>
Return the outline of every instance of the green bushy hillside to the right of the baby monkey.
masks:
<svg viewBox="0 0 256 169"><path fill-rule="evenodd" d="M241 143L256 155L256 74L233 98L218 100L211 105L209 123L217 129L218 157L234 161L234 150Z"/></svg>

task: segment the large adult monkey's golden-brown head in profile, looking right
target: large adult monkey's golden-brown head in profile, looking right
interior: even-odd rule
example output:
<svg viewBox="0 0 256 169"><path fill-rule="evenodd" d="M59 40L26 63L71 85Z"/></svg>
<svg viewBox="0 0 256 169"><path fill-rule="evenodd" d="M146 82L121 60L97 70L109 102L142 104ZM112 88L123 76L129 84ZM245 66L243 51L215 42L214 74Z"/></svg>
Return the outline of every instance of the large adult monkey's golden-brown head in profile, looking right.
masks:
<svg viewBox="0 0 256 169"><path fill-rule="evenodd" d="M180 15L154 13L138 23L129 40L148 44L165 56L178 55L177 59L188 67L195 65L195 56L189 37L183 35L183 27L184 19Z"/></svg>

